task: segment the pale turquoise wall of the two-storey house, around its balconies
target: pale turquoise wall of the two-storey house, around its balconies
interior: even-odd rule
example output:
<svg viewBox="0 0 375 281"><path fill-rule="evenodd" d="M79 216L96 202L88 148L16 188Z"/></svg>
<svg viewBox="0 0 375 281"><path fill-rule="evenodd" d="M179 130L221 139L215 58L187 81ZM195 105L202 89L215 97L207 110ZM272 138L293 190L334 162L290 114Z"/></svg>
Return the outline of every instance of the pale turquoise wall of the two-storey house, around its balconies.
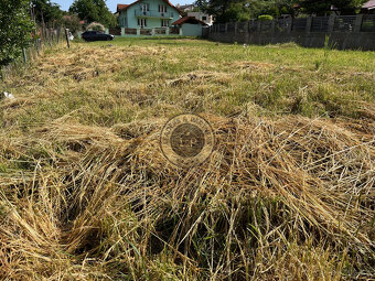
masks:
<svg viewBox="0 0 375 281"><path fill-rule="evenodd" d="M159 14L159 4L167 6L167 13L173 13L173 19L170 20L170 24L180 19L180 14L179 14L178 10L170 7L164 1L162 1L162 0L144 0L144 1L141 1L137 4L135 4L135 6L131 6L126 11L122 11L119 14L118 22L119 22L121 28L127 28L127 29L140 28L140 26L138 26L138 18L136 17L136 11L141 10L141 3L149 3L150 4L150 11L153 12L153 13L158 13L158 14ZM161 21L162 21L161 18L160 19L147 18L147 29L161 28Z"/></svg>

